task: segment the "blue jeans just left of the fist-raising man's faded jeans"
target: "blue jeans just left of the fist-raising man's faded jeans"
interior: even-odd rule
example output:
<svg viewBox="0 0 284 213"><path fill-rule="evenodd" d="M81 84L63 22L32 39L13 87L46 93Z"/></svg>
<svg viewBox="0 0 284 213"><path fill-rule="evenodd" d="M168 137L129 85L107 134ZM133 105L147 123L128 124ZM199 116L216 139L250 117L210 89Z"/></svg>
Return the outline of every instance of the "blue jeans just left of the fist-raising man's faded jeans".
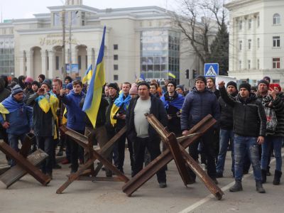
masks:
<svg viewBox="0 0 284 213"><path fill-rule="evenodd" d="M219 155L216 165L217 173L224 172L224 165L226 160L226 151L229 146L229 141L231 143L231 172L234 174L234 132L233 130L220 129L220 148Z"/></svg>

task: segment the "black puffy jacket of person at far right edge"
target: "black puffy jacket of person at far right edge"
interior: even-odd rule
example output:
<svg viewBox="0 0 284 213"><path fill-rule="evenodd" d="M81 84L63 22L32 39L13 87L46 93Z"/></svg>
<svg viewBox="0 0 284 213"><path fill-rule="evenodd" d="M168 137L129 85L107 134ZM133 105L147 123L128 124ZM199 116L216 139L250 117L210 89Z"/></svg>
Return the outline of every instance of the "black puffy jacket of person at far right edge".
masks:
<svg viewBox="0 0 284 213"><path fill-rule="evenodd" d="M263 98L263 106L268 107L269 103L272 103L272 109L275 110L277 118L277 127L273 136L284 136L284 94L279 92L275 100L268 95Z"/></svg>

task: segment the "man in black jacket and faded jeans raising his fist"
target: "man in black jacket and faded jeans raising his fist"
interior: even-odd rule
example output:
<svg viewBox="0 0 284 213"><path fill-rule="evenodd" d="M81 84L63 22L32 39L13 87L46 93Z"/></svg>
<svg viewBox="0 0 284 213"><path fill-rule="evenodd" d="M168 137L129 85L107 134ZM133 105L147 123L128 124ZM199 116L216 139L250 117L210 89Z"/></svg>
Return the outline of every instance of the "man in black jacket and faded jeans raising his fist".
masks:
<svg viewBox="0 0 284 213"><path fill-rule="evenodd" d="M239 85L239 95L236 99L229 97L224 87L224 82L219 82L219 90L226 104L233 107L234 120L234 156L235 156L235 184L230 187L230 192L243 190L241 180L244 170L244 156L249 151L253 175L256 180L256 190L265 193L261 183L261 165L259 163L258 144L264 142L266 136L266 113L262 103L251 93L251 85Z"/></svg>

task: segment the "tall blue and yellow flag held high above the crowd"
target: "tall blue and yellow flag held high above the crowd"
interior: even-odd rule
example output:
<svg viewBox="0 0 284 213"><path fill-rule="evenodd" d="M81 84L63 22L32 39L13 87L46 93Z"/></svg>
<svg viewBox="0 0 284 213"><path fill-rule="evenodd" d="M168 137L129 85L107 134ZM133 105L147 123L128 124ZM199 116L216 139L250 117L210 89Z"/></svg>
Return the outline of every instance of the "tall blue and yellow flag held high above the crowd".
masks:
<svg viewBox="0 0 284 213"><path fill-rule="evenodd" d="M104 35L106 34L106 26L104 26L104 33L102 35L102 44L99 48L99 56L97 58L97 66L92 75L89 89L84 99L83 111L89 117L92 125L96 126L97 114L99 111L99 104L102 99L102 87L105 84L104 78Z"/></svg>

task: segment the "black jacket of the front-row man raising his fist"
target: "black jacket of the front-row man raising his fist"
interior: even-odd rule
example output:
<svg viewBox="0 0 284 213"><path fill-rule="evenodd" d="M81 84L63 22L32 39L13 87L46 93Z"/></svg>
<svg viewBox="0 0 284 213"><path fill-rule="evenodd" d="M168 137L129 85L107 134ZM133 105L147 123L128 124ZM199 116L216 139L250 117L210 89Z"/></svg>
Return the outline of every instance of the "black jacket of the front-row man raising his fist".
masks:
<svg viewBox="0 0 284 213"><path fill-rule="evenodd" d="M255 94L250 94L246 100L238 94L234 99L229 97L225 87L219 88L219 90L224 102L234 108L234 133L247 137L266 136L266 113Z"/></svg>

